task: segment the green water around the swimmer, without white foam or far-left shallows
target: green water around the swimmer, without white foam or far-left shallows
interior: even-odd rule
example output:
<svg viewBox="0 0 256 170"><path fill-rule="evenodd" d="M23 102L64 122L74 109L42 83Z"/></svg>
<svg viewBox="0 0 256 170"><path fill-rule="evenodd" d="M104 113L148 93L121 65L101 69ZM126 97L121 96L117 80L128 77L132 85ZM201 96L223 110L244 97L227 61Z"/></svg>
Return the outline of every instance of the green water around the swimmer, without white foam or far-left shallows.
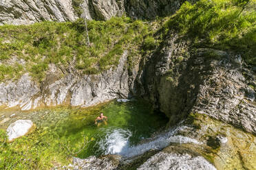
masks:
<svg viewBox="0 0 256 170"><path fill-rule="evenodd" d="M108 117L108 121L107 125L103 123L97 127L94 119L100 112ZM30 115L34 119L33 114ZM34 119L36 125L50 128L58 138L69 141L71 147L79 147L76 144L82 143L84 136L94 138L94 141L76 155L80 158L103 154L103 151L98 149L98 141L104 138L109 130L129 130L132 133L129 145L136 145L167 123L167 118L162 113L152 112L151 106L144 101L111 101L93 108L58 108L35 112L34 115L38 116L38 119Z"/></svg>

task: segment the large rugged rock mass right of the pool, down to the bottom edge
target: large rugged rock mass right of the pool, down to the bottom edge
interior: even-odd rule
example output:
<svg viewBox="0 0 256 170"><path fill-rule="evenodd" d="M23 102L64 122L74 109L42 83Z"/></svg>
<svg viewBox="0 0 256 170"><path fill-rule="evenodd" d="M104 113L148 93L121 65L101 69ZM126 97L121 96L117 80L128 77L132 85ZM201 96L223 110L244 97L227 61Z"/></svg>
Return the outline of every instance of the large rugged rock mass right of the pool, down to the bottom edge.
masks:
<svg viewBox="0 0 256 170"><path fill-rule="evenodd" d="M239 54L193 49L188 41L172 34L147 60L141 60L132 88L167 114L169 125L175 125L174 130L153 136L142 145L169 141L169 146L125 163L114 158L105 169L254 169L253 86L255 73ZM95 160L90 157L74 164L97 169L106 163Z"/></svg>

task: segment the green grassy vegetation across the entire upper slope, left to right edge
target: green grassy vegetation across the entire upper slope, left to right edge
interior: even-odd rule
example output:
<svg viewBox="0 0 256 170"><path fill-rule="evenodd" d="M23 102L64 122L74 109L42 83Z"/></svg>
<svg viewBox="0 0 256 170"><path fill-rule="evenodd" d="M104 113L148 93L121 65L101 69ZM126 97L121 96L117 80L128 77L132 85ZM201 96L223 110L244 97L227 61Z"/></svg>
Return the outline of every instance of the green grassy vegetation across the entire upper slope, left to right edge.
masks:
<svg viewBox="0 0 256 170"><path fill-rule="evenodd" d="M81 14L81 1L73 0L72 4L77 7L76 13ZM248 64L256 65L255 6L256 0L200 0L193 5L185 2L175 15L151 22L133 21L125 16L88 21L92 41L89 47L83 19L74 23L3 25L0 27L0 81L13 76L17 79L28 72L41 82L50 63L97 74L117 66L124 50L129 50L131 71L134 60L156 49L170 29L191 39L195 48L235 51ZM165 20L168 21L161 28ZM153 28L154 31L149 31ZM164 30L163 34L155 34L156 29Z"/></svg>

